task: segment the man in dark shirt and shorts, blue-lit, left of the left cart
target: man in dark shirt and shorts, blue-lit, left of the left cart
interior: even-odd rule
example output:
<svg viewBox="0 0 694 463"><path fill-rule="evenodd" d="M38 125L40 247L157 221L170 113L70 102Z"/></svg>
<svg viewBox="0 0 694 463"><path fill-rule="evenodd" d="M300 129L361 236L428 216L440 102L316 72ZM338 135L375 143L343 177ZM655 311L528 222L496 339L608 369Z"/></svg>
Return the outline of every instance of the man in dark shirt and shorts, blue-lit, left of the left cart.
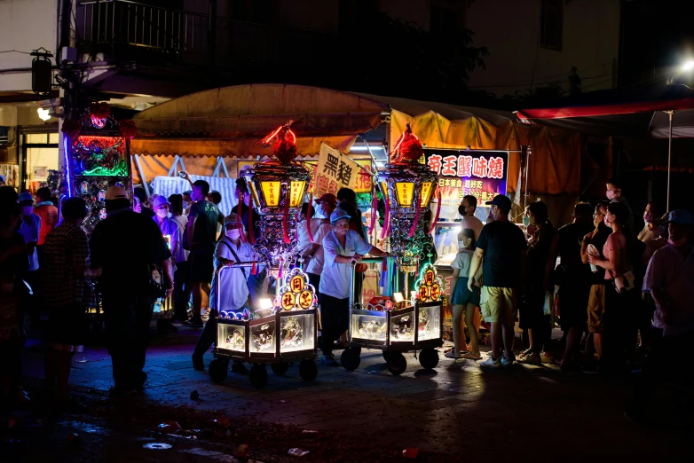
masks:
<svg viewBox="0 0 694 463"><path fill-rule="evenodd" d="M214 273L217 224L224 223L224 215L214 203L207 200L209 184L204 180L193 182L191 199L195 202L188 215L185 227L190 247L190 281L193 291L193 318L190 326L202 327L201 308L209 307L209 284Z"/></svg>

